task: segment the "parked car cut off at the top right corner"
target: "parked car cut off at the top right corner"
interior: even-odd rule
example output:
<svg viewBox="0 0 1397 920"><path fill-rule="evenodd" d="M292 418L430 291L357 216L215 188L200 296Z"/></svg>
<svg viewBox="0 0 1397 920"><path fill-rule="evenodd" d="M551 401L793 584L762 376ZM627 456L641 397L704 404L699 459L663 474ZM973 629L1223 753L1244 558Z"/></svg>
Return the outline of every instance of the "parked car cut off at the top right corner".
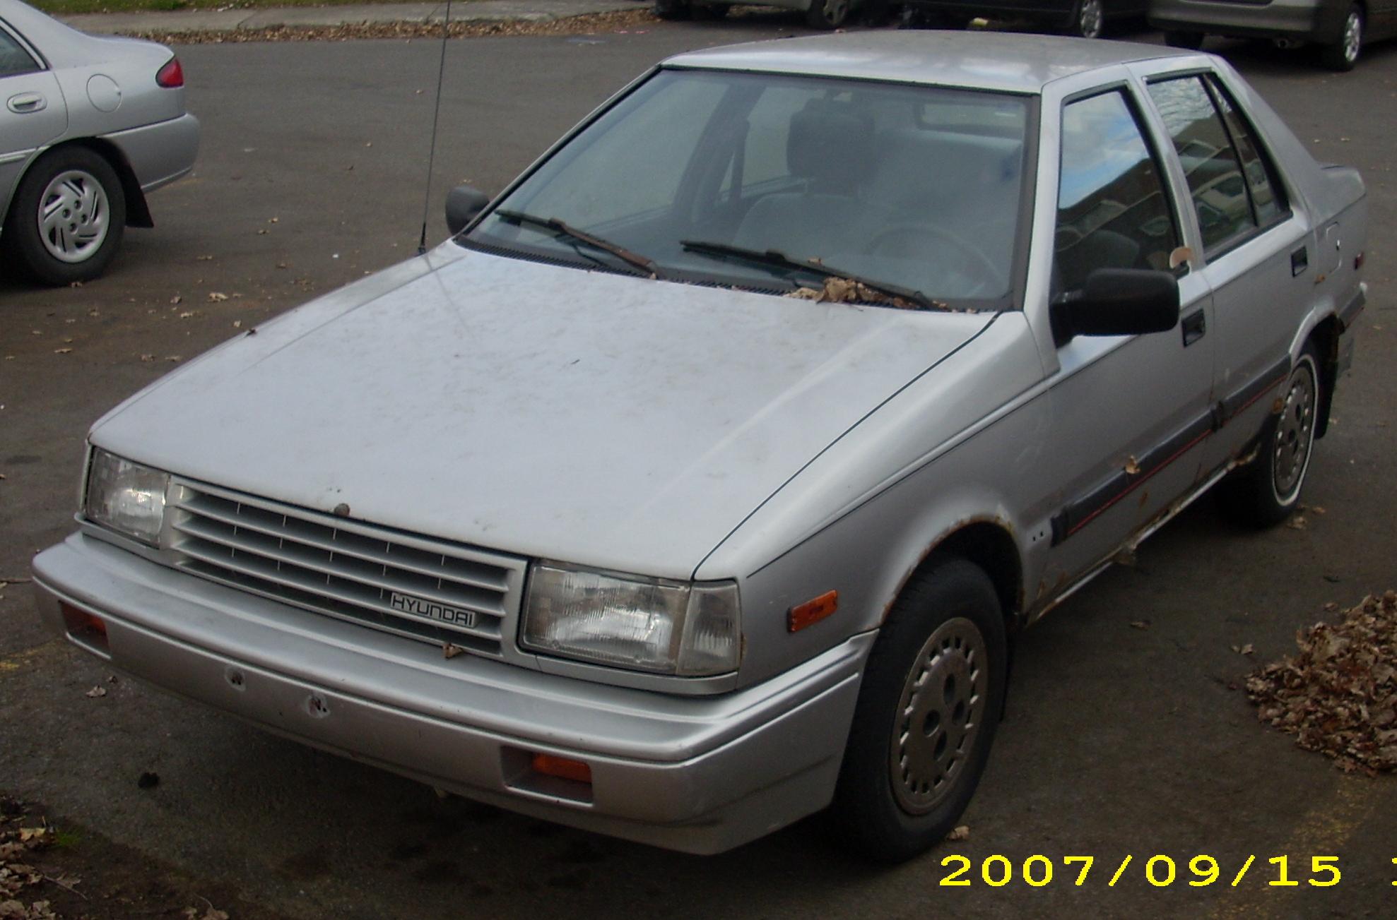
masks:
<svg viewBox="0 0 1397 920"><path fill-rule="evenodd" d="M1397 0L1150 0L1150 25L1173 47L1207 35L1317 45L1331 70L1352 70L1363 45L1397 35Z"/></svg>

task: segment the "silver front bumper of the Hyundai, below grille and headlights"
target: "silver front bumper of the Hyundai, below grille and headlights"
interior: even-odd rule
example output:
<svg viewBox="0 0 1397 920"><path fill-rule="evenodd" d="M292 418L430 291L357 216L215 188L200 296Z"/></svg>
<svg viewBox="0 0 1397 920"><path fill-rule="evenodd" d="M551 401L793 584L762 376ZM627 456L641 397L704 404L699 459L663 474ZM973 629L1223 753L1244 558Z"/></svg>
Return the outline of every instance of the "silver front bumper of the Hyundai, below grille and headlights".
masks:
<svg viewBox="0 0 1397 920"><path fill-rule="evenodd" d="M746 690L675 697L446 659L82 533L34 574L45 620L134 677L471 799L690 853L828 804L873 641ZM102 617L105 646L71 632L60 602ZM532 754L585 761L591 786L534 773Z"/></svg>

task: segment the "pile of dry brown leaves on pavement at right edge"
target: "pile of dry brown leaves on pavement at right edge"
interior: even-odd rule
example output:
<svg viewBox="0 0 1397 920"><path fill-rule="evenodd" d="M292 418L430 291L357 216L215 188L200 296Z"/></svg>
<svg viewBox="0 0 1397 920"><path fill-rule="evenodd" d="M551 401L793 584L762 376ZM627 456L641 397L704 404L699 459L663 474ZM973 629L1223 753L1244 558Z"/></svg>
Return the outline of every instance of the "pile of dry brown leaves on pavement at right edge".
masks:
<svg viewBox="0 0 1397 920"><path fill-rule="evenodd" d="M1257 716L1344 772L1397 769L1397 591L1295 637L1301 653L1246 680Z"/></svg>

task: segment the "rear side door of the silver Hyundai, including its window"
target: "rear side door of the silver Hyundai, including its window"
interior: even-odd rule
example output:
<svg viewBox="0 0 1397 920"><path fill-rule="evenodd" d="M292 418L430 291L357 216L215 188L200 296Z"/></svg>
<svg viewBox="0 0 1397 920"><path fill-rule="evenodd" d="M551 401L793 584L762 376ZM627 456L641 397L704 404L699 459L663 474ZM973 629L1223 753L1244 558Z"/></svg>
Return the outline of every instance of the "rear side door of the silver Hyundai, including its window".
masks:
<svg viewBox="0 0 1397 920"><path fill-rule="evenodd" d="M1310 293L1334 265L1313 244L1323 228L1291 207L1260 138L1214 74L1155 77L1148 94L1183 168L1213 288L1218 429L1203 457L1213 469L1260 430L1268 396L1289 373Z"/></svg>

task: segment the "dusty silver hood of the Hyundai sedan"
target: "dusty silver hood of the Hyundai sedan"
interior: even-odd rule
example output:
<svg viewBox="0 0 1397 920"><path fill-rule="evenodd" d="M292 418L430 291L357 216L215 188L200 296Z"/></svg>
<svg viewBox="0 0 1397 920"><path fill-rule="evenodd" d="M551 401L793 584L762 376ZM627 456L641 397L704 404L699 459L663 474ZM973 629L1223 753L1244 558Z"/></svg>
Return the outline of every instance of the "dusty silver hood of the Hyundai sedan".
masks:
<svg viewBox="0 0 1397 920"><path fill-rule="evenodd" d="M360 521L687 578L988 320L448 243L214 349L92 441L319 511L345 503Z"/></svg>

